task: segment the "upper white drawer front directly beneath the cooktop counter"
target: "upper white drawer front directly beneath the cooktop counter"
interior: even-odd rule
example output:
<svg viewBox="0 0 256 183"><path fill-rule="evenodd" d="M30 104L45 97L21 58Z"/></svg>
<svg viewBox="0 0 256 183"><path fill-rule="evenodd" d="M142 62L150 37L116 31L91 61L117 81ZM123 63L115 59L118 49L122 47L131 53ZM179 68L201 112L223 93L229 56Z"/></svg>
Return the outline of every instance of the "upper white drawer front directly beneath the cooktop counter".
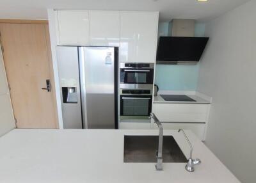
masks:
<svg viewBox="0 0 256 183"><path fill-rule="evenodd" d="M207 113L208 104L154 104L154 113Z"/></svg>

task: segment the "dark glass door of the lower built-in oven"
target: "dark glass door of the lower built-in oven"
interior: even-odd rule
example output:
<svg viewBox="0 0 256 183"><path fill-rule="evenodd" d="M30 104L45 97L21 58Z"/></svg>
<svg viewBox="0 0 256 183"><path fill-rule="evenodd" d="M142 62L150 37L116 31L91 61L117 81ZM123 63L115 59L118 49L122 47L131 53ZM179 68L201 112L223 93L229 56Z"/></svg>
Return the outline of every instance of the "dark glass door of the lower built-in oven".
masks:
<svg viewBox="0 0 256 183"><path fill-rule="evenodd" d="M120 95L121 116L150 116L151 95Z"/></svg>

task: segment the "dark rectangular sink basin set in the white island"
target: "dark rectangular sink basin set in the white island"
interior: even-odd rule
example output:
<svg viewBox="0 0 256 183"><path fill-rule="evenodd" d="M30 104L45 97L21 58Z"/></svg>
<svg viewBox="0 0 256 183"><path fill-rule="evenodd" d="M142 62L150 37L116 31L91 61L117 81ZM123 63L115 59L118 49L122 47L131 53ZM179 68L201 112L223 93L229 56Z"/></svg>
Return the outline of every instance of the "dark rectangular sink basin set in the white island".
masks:
<svg viewBox="0 0 256 183"><path fill-rule="evenodd" d="M158 136L124 136L124 163L156 163ZM163 136L163 162L186 163L173 136Z"/></svg>

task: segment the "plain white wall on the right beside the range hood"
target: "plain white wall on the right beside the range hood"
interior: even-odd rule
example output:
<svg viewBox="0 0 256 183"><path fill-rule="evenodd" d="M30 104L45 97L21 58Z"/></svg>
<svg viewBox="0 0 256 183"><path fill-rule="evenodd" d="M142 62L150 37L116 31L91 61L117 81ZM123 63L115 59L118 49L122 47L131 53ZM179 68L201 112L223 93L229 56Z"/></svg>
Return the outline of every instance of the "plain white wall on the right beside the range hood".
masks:
<svg viewBox="0 0 256 183"><path fill-rule="evenodd" d="M205 143L241 182L256 182L256 1L212 20L198 92L212 97Z"/></svg>

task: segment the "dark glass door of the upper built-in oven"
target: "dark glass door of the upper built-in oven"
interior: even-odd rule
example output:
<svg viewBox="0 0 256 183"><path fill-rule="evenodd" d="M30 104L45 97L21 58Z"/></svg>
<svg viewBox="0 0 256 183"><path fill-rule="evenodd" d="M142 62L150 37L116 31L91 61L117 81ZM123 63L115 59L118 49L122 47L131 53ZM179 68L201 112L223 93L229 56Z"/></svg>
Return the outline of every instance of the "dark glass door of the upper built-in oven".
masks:
<svg viewBox="0 0 256 183"><path fill-rule="evenodd" d="M125 84L153 84L154 69L120 70L120 82Z"/></svg>

